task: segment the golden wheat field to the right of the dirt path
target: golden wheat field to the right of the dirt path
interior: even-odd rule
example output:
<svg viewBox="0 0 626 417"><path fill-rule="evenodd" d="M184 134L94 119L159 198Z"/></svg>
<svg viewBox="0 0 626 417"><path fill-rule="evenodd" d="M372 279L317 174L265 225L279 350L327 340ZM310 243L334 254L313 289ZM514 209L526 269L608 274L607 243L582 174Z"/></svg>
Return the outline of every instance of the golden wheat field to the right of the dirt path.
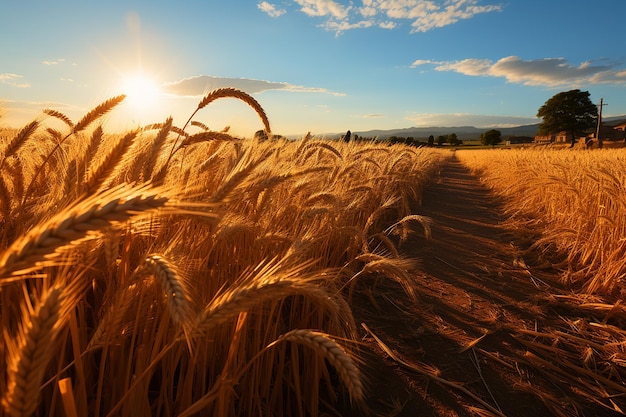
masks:
<svg viewBox="0 0 626 417"><path fill-rule="evenodd" d="M457 152L582 294L624 299L626 149Z"/></svg>

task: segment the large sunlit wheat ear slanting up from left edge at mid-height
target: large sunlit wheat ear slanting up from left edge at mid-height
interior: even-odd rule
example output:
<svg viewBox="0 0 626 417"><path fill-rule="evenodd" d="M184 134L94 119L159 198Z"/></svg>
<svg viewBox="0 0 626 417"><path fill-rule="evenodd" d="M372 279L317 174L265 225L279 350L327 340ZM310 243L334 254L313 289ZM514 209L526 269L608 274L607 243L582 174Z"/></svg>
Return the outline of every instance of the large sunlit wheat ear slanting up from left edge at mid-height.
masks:
<svg viewBox="0 0 626 417"><path fill-rule="evenodd" d="M57 249L85 238L90 232L163 207L167 201L157 190L124 186L80 201L13 242L0 256L0 277L15 275L23 268L32 269L51 258ZM0 281L0 287L5 282Z"/></svg>

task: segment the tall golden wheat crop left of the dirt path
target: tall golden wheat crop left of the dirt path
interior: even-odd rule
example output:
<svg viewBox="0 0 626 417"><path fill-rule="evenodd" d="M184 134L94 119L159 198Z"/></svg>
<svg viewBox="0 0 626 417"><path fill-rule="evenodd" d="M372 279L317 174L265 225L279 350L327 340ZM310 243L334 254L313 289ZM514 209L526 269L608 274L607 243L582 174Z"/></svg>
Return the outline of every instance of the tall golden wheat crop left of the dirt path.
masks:
<svg viewBox="0 0 626 417"><path fill-rule="evenodd" d="M259 103L231 88L182 127L107 133L118 96L77 122L45 109L1 132L6 415L366 407L350 298L379 279L410 293L412 264L392 235L428 228L410 204L449 154L242 140L201 122L224 98L248 104L272 137Z"/></svg>

